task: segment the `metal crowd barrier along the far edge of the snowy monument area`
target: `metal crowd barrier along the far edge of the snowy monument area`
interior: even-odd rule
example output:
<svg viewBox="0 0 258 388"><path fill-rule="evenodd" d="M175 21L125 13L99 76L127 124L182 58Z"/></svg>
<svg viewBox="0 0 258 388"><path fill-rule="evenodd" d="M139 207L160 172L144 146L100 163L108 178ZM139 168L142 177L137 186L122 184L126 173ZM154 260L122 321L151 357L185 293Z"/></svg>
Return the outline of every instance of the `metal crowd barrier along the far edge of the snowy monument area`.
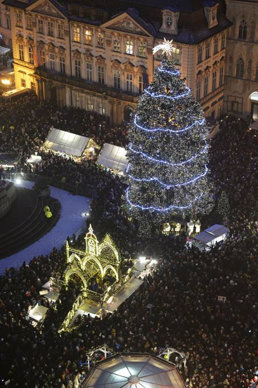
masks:
<svg viewBox="0 0 258 388"><path fill-rule="evenodd" d="M11 179L11 180L24 179L24 180L30 180L30 181L42 181L42 182L45 182L47 185L69 191L69 193L83 195L91 198L94 190L93 185L83 185L83 186L72 185L70 183L61 182L55 178L45 177L43 175L37 175L37 174L31 174L31 173L30 174L10 173L10 172L4 171L4 173L2 174L2 178Z"/></svg>

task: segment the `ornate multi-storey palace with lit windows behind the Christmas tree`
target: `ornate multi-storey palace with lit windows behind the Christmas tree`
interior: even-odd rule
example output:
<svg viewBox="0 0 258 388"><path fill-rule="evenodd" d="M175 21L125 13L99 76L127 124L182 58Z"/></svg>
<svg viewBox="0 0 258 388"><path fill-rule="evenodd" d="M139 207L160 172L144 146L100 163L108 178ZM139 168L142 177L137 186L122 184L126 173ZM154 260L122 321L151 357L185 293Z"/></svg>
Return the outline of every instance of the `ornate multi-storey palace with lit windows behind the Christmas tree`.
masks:
<svg viewBox="0 0 258 388"><path fill-rule="evenodd" d="M182 77L206 116L223 107L225 50L231 25L220 0L5 0L10 9L15 85L41 99L128 120L173 39ZM89 2L90 3L90 2ZM128 7L129 4L129 7ZM172 5L171 5L172 4ZM176 3L175 3L176 4Z"/></svg>

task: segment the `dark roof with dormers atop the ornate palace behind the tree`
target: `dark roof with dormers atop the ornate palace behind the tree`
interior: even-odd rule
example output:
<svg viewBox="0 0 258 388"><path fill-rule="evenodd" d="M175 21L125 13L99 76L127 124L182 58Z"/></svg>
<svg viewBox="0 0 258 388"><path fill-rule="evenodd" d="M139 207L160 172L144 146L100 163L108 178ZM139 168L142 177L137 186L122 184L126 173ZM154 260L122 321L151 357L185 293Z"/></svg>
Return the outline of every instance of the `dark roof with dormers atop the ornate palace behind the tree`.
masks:
<svg viewBox="0 0 258 388"><path fill-rule="evenodd" d="M4 0L3 4L8 6L26 9L31 7L35 1L29 3L19 0ZM48 0L63 15L70 20L101 26L112 20L114 17L126 13L145 31L155 38L173 39L178 43L198 44L212 35L228 28L232 23L224 14L222 0L95 0L95 7L98 7L98 16L90 15L90 0L61 1ZM212 6L218 3L217 20L218 25L209 29L204 6ZM79 11L75 8L78 7ZM162 10L180 12L178 20L178 34L160 32L162 25Z"/></svg>

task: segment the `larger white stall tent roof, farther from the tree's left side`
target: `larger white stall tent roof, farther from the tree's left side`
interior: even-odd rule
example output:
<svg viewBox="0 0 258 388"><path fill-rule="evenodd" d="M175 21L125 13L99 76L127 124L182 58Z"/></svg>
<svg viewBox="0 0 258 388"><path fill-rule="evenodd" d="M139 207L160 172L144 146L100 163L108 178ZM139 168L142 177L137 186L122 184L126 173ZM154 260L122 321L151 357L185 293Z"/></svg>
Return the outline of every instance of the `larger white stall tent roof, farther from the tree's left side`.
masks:
<svg viewBox="0 0 258 388"><path fill-rule="evenodd" d="M81 156L89 140L89 137L53 128L46 138L45 147L64 154Z"/></svg>

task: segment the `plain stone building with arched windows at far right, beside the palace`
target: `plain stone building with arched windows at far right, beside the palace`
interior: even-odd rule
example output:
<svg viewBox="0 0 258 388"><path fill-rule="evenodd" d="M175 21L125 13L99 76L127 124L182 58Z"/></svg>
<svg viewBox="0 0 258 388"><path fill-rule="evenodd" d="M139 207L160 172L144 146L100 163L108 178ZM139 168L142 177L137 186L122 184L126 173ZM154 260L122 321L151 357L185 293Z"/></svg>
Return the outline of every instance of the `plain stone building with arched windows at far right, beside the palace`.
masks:
<svg viewBox="0 0 258 388"><path fill-rule="evenodd" d="M228 32L225 107L258 120L258 0L226 0Z"/></svg>

